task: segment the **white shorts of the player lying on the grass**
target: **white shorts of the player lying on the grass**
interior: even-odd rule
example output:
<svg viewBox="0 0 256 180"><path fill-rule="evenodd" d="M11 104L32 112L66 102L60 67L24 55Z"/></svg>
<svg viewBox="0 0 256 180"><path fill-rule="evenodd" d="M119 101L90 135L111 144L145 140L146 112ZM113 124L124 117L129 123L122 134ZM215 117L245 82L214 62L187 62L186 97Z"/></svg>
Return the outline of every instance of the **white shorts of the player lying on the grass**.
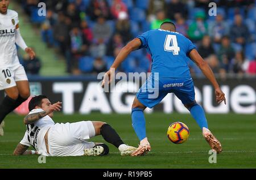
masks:
<svg viewBox="0 0 256 180"><path fill-rule="evenodd" d="M84 149L94 147L93 142L86 142L94 136L92 121L56 123L48 131L49 155L82 156Z"/></svg>

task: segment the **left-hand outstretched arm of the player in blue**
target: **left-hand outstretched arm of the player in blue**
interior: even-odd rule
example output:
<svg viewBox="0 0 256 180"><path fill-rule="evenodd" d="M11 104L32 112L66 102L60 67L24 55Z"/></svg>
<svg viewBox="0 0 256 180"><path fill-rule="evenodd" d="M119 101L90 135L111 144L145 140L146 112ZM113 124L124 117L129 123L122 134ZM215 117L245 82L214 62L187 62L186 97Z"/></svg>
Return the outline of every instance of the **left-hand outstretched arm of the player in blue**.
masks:
<svg viewBox="0 0 256 180"><path fill-rule="evenodd" d="M116 68L119 67L119 65L127 58L127 56L133 52L134 50L139 49L141 46L141 40L138 38L134 38L134 40L130 41L125 47L121 49L117 57L115 58L115 61L113 62L112 66L110 67L110 70L106 72L104 76L104 80L102 82L102 87L104 87L104 84L106 82L110 83L111 82L111 77L110 77L110 71L115 70Z"/></svg>

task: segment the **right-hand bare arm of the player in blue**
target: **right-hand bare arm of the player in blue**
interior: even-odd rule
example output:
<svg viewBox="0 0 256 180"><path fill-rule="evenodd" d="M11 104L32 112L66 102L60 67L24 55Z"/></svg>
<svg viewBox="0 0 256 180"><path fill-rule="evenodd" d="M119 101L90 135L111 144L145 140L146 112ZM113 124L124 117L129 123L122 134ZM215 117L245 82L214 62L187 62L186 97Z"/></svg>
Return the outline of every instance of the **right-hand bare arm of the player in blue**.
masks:
<svg viewBox="0 0 256 180"><path fill-rule="evenodd" d="M200 70L204 73L204 75L210 80L216 95L216 101L220 104L222 101L226 104L225 94L221 91L220 86L213 74L212 69L209 67L208 63L204 61L201 55L197 52L196 49L193 49L189 53L189 57L196 63L196 65L200 68Z"/></svg>

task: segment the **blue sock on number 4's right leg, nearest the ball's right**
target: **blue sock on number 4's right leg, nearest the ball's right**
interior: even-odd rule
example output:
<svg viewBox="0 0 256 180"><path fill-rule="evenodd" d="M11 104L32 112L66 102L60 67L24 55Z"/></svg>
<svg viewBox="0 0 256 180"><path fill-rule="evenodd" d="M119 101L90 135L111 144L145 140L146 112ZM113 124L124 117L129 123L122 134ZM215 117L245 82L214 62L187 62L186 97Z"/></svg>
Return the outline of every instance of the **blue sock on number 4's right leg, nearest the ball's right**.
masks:
<svg viewBox="0 0 256 180"><path fill-rule="evenodd" d="M199 104L193 105L192 108L190 109L190 113L201 129L203 129L203 127L208 128L204 109Z"/></svg>

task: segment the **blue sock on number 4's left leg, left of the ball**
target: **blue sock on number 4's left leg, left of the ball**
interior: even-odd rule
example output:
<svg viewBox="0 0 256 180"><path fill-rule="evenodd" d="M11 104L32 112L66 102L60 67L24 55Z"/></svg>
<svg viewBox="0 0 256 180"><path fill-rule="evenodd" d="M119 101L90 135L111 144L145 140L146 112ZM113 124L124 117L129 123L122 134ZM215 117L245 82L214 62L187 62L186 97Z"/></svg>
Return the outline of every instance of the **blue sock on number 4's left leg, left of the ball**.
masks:
<svg viewBox="0 0 256 180"><path fill-rule="evenodd" d="M146 138L146 121L143 110L140 108L132 109L131 119L133 122L134 131L136 132L139 140Z"/></svg>

